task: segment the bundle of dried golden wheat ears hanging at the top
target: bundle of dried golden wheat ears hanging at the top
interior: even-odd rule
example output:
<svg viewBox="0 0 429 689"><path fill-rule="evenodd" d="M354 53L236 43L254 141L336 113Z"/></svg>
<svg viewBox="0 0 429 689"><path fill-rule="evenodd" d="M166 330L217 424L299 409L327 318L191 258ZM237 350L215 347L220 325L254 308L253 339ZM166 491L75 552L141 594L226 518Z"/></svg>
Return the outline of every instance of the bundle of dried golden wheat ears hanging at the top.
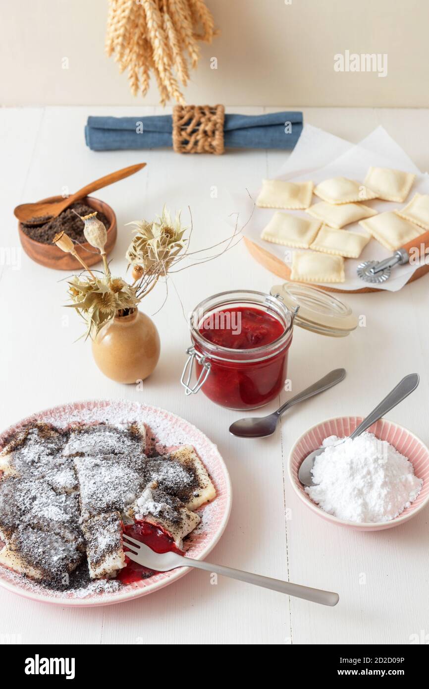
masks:
<svg viewBox="0 0 429 689"><path fill-rule="evenodd" d="M214 36L204 0L109 0L106 52L114 55L121 72L128 69L134 96L147 93L153 72L160 102L174 99L185 105L178 82L187 85L187 56L195 68L198 41L211 43Z"/></svg>

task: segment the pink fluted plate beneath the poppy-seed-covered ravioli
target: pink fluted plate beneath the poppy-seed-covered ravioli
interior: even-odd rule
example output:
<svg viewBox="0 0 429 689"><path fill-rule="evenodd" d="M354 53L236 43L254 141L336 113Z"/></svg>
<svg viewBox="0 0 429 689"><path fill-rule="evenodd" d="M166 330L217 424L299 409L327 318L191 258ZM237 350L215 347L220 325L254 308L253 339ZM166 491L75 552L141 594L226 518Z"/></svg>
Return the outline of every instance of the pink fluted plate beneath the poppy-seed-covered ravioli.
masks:
<svg viewBox="0 0 429 689"><path fill-rule="evenodd" d="M10 426L0 435L0 449L11 431L19 430L23 424L36 421L43 421L62 428L67 427L72 422L79 421L114 424L142 421L149 426L156 443L164 446L160 453L164 453L177 445L193 445L211 476L216 488L216 498L198 511L202 521L186 539L187 555L194 559L204 559L220 539L224 528L227 526L231 511L232 491L229 473L216 445L189 422L164 409L149 407L140 402L129 400L74 402L61 407L46 409ZM0 565L0 586L13 593L43 603L74 607L100 606L129 601L154 593L163 586L176 582L189 571L191 568L181 567L170 572L158 573L149 579L123 585L118 590L109 590L109 586L107 586L101 592L93 590L87 592L86 589L82 589L69 593L45 588Z"/></svg>

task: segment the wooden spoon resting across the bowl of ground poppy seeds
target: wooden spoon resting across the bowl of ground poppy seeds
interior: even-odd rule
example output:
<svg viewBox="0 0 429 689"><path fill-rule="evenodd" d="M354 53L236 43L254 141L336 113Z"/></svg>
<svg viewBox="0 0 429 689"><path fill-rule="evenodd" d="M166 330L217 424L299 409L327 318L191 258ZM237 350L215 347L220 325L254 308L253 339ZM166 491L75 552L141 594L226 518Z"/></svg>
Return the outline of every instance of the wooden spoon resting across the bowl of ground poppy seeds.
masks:
<svg viewBox="0 0 429 689"><path fill-rule="evenodd" d="M68 208L74 201L79 200L79 198L85 198L92 192L96 192L97 189L103 189L109 184L113 184L120 179L129 177L129 175L138 172L138 170L145 167L146 163L138 163L138 165L130 165L129 167L123 167L121 170L116 172L111 172L110 174L96 179L96 181L87 184L86 187L79 189L79 192L64 198L61 201L38 201L37 203L21 203L14 209L14 215L21 220L21 223L26 223L27 225L43 225L46 222L45 218L56 218L59 214ZM32 218L44 218L43 222L41 220L34 220L31 222Z"/></svg>

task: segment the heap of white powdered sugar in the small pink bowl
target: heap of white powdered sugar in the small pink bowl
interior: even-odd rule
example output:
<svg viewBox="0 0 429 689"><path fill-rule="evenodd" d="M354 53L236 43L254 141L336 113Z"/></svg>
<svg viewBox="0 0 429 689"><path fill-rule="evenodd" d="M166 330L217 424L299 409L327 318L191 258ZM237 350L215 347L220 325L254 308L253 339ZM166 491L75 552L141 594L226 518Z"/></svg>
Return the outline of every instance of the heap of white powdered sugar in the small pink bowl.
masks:
<svg viewBox="0 0 429 689"><path fill-rule="evenodd" d="M411 462L386 440L362 433L341 442L326 438L305 489L325 512L350 522L388 522L410 506L423 481Z"/></svg>

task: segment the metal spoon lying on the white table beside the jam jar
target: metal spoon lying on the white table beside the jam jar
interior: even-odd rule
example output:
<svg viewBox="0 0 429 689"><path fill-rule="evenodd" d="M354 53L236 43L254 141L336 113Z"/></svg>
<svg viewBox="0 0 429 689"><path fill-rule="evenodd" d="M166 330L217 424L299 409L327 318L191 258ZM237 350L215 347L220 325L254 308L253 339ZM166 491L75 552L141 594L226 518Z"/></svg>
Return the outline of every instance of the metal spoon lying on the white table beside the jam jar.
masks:
<svg viewBox="0 0 429 689"><path fill-rule="evenodd" d="M267 435L273 435L278 424L280 416L284 414L286 409L290 409L297 402L303 402L313 395L318 395L324 390L328 390L337 383L344 380L346 377L346 369L334 369L326 376L317 380L310 387L298 393L291 400L282 404L282 407L274 411L268 416L252 416L250 418L243 418L235 421L229 426L229 433L237 435L238 438L266 438Z"/></svg>

